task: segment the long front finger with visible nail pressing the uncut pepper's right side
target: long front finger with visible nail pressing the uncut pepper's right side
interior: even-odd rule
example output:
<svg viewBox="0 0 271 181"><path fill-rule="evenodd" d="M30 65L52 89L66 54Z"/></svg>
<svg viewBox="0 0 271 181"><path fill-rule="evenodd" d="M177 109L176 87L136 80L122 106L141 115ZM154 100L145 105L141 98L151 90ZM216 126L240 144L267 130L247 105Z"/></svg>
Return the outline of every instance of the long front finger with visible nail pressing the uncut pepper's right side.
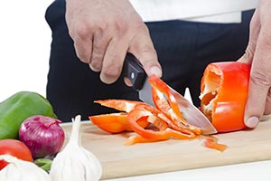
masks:
<svg viewBox="0 0 271 181"><path fill-rule="evenodd" d="M248 89L248 101L245 110L245 124L254 128L256 121L249 118L261 119L266 110L266 99L271 87L271 24L262 26L258 35L257 47L253 59ZM270 95L270 93L269 93ZM269 103L267 102L269 107Z"/></svg>

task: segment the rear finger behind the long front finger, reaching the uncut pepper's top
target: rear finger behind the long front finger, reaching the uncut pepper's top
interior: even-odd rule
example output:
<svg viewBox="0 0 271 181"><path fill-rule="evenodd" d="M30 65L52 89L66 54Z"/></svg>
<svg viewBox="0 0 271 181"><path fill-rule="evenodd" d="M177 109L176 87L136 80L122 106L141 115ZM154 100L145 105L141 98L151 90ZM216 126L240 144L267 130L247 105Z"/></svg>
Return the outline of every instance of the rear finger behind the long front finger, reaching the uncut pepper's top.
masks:
<svg viewBox="0 0 271 181"><path fill-rule="evenodd" d="M244 55L238 60L238 62L246 62L248 64L251 64L254 52L256 49L258 34L260 32L260 19L258 11L256 10L255 13L252 16L252 19L250 21L250 31L249 31L249 41L248 46L246 49L246 52Z"/></svg>

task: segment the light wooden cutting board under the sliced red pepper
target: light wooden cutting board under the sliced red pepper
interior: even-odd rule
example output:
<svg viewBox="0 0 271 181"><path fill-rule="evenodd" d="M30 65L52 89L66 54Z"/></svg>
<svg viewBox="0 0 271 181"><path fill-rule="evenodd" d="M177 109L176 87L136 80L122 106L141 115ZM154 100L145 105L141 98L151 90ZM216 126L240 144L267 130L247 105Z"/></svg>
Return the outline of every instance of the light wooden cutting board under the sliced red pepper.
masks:
<svg viewBox="0 0 271 181"><path fill-rule="evenodd" d="M69 138L71 124L62 127ZM102 179L271 160L270 117L263 119L257 129L216 135L229 147L224 152L205 148L198 138L123 145L131 134L108 134L90 121L81 124L82 146L101 161Z"/></svg>

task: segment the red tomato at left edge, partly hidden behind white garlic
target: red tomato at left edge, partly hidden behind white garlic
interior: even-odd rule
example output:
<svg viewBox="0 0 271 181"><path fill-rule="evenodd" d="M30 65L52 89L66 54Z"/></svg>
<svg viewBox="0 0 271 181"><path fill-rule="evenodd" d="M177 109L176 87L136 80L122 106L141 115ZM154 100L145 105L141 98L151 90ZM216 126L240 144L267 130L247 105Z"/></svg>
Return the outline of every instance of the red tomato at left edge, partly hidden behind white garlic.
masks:
<svg viewBox="0 0 271 181"><path fill-rule="evenodd" d="M25 161L33 161L33 157L29 148L17 139L2 139L0 140L0 155L11 155ZM0 160L0 170L8 163Z"/></svg>

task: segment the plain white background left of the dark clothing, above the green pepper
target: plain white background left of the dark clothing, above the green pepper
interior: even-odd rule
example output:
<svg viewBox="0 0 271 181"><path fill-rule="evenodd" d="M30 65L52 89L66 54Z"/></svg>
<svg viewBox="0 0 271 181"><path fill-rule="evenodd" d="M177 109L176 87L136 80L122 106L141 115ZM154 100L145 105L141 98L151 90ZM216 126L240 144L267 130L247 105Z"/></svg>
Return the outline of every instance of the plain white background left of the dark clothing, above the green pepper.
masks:
<svg viewBox="0 0 271 181"><path fill-rule="evenodd" d="M0 2L0 101L21 90L45 96L51 30L44 14L51 2Z"/></svg>

